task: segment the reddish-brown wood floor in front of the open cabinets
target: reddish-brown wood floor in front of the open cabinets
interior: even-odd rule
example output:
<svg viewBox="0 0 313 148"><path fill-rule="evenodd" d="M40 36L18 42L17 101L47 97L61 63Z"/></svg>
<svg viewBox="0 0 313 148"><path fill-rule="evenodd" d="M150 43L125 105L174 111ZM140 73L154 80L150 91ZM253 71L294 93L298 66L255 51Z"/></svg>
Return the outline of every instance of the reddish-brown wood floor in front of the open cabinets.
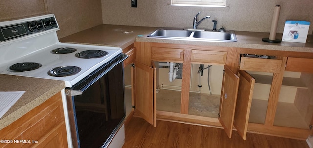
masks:
<svg viewBox="0 0 313 148"><path fill-rule="evenodd" d="M229 139L223 129L167 121L153 127L132 117L125 126L123 148L309 148L306 141L247 133L246 140L233 132Z"/></svg>

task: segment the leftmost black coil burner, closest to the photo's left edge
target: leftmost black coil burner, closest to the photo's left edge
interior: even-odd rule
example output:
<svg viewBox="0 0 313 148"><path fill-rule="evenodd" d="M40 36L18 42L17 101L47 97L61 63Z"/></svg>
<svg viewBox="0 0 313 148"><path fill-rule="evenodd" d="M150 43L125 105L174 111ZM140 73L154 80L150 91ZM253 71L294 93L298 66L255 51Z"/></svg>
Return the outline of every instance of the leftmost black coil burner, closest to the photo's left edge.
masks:
<svg viewBox="0 0 313 148"><path fill-rule="evenodd" d="M23 63L16 63L12 66L10 66L10 70L13 70L14 72L23 72L23 71L31 71L38 69L42 65L40 63L35 62L23 62Z"/></svg>

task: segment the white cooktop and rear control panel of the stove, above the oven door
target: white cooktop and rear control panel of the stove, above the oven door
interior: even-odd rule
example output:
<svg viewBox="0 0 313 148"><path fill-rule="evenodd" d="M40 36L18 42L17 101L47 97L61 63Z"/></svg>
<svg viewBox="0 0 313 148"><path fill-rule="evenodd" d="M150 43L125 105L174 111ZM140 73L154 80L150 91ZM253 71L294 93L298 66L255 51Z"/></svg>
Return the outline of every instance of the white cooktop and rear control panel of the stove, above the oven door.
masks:
<svg viewBox="0 0 313 148"><path fill-rule="evenodd" d="M53 14L0 22L0 73L64 80L66 87L71 87L122 53L122 49L118 47L61 43L57 37L57 30L59 27ZM55 49L59 49L60 52L53 53ZM70 51L72 49L76 50ZM90 57L75 56L83 51ZM102 57L101 54L105 55ZM12 70L14 68L11 66L14 64L18 64L15 67L22 70ZM37 64L40 67L36 68ZM30 67L30 70L27 70L27 67ZM61 74L74 71L77 73L67 76L49 74L51 69L57 67L63 68L56 70Z"/></svg>

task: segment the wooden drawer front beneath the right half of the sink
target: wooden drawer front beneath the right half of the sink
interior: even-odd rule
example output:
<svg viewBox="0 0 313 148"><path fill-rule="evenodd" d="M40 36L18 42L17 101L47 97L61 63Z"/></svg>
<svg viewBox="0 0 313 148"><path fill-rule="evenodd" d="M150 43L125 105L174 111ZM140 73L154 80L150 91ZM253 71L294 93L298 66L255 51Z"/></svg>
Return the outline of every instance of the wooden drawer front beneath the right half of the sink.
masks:
<svg viewBox="0 0 313 148"><path fill-rule="evenodd" d="M227 58L227 52L221 51L204 51L204 50L192 50L191 62L192 63L217 63L225 64Z"/></svg>

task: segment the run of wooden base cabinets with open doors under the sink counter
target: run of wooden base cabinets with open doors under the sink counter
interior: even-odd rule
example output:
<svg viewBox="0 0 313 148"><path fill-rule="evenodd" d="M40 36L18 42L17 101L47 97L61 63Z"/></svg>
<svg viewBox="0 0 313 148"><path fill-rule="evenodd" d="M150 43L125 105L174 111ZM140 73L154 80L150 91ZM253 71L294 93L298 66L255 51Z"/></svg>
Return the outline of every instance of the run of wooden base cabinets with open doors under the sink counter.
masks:
<svg viewBox="0 0 313 148"><path fill-rule="evenodd" d="M244 140L247 132L302 140L312 134L313 54L151 42L135 44L134 112L154 126L155 120L160 119L222 127L229 138L235 127ZM275 58L241 57L242 54ZM163 94L164 88L169 91L174 86L168 87L161 81L160 75L168 71L162 74L157 62L183 64L182 79L175 85L179 91ZM204 72L205 84L199 81L203 79L197 74L199 65L210 69ZM193 88L194 82L201 82L199 91ZM202 93L210 84L212 92Z"/></svg>

